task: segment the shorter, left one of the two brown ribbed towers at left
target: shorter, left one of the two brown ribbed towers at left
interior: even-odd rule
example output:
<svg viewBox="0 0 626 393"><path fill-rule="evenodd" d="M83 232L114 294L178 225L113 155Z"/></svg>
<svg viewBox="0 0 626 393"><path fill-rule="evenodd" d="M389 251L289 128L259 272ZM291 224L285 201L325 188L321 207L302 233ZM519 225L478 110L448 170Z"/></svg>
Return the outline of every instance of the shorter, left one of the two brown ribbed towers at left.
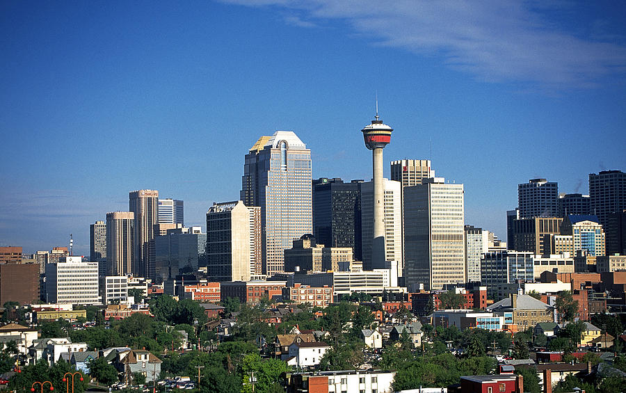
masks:
<svg viewBox="0 0 626 393"><path fill-rule="evenodd" d="M133 273L134 217L132 211L106 214L106 271L109 275Z"/></svg>

